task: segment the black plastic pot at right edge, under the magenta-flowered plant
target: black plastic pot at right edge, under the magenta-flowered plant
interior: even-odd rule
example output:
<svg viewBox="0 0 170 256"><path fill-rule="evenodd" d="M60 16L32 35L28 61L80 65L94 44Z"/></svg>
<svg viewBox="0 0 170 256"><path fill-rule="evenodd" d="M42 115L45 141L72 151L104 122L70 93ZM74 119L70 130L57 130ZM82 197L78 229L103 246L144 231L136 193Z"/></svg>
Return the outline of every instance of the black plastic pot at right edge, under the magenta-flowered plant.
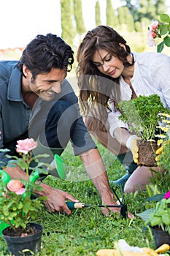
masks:
<svg viewBox="0 0 170 256"><path fill-rule="evenodd" d="M158 248L162 244L169 244L170 245L170 235L168 232L161 230L157 226L151 227L152 235L155 239L155 246Z"/></svg>

